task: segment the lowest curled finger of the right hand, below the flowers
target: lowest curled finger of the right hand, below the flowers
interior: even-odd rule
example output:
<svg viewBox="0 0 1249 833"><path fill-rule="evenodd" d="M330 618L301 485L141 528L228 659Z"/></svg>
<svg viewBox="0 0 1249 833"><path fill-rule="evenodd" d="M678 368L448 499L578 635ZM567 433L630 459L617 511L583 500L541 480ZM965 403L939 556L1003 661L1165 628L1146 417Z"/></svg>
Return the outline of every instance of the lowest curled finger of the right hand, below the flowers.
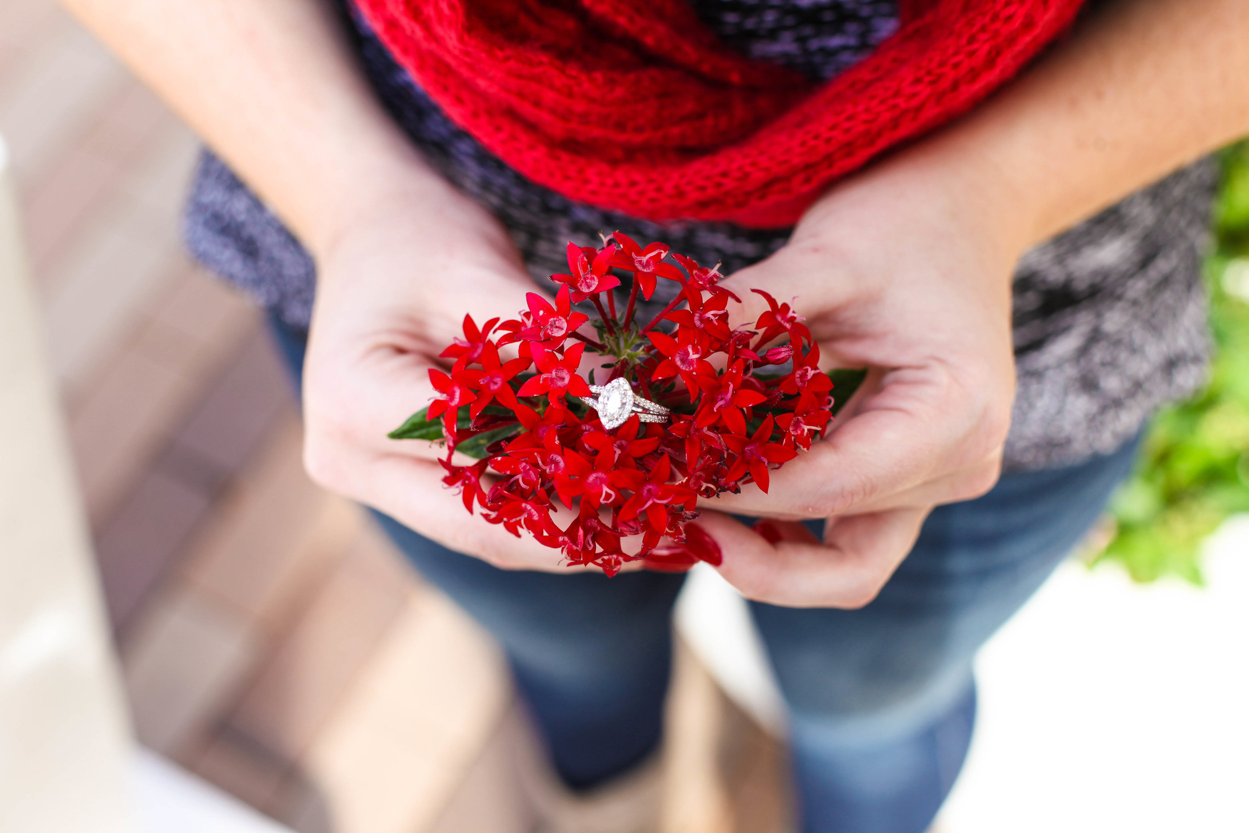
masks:
<svg viewBox="0 0 1249 833"><path fill-rule="evenodd" d="M698 523L723 552L719 573L747 598L784 607L859 608L911 552L928 508L838 518L824 542L776 543L718 512Z"/></svg>

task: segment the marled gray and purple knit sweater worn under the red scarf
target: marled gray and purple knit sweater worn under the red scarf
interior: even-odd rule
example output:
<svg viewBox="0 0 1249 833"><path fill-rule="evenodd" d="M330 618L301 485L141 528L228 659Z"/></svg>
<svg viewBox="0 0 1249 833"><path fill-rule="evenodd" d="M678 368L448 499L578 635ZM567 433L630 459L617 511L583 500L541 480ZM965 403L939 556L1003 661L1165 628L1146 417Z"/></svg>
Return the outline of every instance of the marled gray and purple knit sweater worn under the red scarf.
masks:
<svg viewBox="0 0 1249 833"><path fill-rule="evenodd" d="M831 77L891 34L894 0L692 0L742 51ZM460 130L351 17L361 64L398 125L448 180L511 231L535 280L566 270L565 246L621 230L724 272L757 262L788 230L654 224L573 202L525 179ZM1160 403L1200 385L1207 357L1200 255L1215 187L1203 161L1028 254L1015 276L1019 387L1008 470L1080 462L1132 437ZM311 257L260 201L205 154L186 241L206 266L306 327ZM658 300L658 298L657 298ZM518 300L520 306L520 300Z"/></svg>

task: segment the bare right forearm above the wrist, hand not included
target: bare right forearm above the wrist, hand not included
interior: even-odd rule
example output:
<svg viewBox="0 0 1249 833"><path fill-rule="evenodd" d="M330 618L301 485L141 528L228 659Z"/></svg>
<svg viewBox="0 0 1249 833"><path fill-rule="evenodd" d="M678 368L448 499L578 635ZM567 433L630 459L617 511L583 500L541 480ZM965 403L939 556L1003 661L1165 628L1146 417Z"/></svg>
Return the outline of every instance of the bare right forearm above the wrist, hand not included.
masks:
<svg viewBox="0 0 1249 833"><path fill-rule="evenodd" d="M876 170L899 187L950 192L1018 256L1249 134L1245 44L1244 0L1117 0L970 115Z"/></svg>

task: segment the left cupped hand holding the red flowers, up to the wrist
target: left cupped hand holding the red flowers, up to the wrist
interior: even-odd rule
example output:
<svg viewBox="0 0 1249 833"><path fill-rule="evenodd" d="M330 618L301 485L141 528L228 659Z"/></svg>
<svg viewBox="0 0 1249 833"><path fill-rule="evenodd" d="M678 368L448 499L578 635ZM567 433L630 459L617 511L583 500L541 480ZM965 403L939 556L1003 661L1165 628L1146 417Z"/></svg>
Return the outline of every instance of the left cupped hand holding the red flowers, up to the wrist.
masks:
<svg viewBox="0 0 1249 833"><path fill-rule="evenodd" d="M567 571L560 551L465 512L442 485L445 447L386 436L435 397L428 368L448 366L438 353L462 337L465 313L515 317L535 291L502 227L450 187L375 202L318 252L317 271L304 372L311 477L497 567Z"/></svg>

